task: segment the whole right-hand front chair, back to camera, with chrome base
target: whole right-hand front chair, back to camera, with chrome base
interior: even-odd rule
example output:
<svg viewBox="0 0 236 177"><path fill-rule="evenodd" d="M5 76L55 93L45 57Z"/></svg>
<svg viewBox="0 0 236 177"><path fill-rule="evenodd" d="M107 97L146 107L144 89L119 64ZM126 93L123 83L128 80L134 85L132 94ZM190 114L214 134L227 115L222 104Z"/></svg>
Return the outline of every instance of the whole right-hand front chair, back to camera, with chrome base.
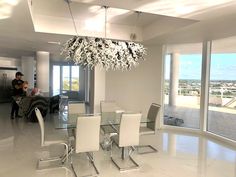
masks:
<svg viewBox="0 0 236 177"><path fill-rule="evenodd" d="M133 146L139 144L139 127L142 114L122 114L120 127L118 135L112 136L112 142L114 142L118 147L122 148L121 159L114 159L112 156L112 147L111 147L111 160L119 168L120 171L126 171L129 169L139 168L139 165L133 160L130 156L131 152L134 150ZM112 146L112 144L111 144ZM121 163L124 163L127 159L125 158L125 148L131 147L131 150L128 154L128 159L132 162L130 167L121 167ZM118 160L121 160L121 163L118 163Z"/></svg>

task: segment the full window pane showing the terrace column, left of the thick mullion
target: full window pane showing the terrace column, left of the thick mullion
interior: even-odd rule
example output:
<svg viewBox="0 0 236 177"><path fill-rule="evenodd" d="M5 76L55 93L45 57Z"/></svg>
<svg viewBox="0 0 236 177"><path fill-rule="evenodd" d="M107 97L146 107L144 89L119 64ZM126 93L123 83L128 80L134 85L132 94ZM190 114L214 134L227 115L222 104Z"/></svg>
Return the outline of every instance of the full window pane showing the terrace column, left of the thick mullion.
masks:
<svg viewBox="0 0 236 177"><path fill-rule="evenodd" d="M169 53L165 59L164 124L199 128L201 44L171 46Z"/></svg>

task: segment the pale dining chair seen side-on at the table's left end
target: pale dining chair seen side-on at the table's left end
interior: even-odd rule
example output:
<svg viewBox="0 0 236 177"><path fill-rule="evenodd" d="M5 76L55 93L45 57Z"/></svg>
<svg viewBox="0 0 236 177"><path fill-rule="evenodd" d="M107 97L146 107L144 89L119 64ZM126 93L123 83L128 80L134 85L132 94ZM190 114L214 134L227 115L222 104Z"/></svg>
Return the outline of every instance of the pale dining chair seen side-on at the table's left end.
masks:
<svg viewBox="0 0 236 177"><path fill-rule="evenodd" d="M42 169L49 169L49 168L40 168L40 164L45 162L52 162L52 161L59 161L61 164L61 166L56 166L53 168L58 168L58 167L62 167L65 168L64 166L62 166L62 164L65 161L68 161L68 145L67 145L67 141L65 140L52 140L52 141L46 141L45 140L45 128L44 128L44 120L42 117L42 114L40 112L40 110L36 107L35 108L35 114L38 118L38 122L39 122L39 126L40 126L40 131L41 131L41 146L42 147L47 147L47 146L51 146L51 145L64 145L65 146L65 152L61 157L54 157L54 158L48 158L48 159L40 159L38 161L38 165L37 165L37 169L38 170L42 170Z"/></svg>

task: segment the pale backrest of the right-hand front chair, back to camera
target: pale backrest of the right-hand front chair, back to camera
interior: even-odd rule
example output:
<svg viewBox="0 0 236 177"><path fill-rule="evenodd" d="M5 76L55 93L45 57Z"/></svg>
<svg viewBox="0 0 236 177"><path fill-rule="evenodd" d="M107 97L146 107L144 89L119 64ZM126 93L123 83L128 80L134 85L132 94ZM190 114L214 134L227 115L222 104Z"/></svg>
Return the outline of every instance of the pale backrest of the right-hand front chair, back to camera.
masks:
<svg viewBox="0 0 236 177"><path fill-rule="evenodd" d="M139 127L142 114L122 114L119 130L119 146L139 145Z"/></svg>

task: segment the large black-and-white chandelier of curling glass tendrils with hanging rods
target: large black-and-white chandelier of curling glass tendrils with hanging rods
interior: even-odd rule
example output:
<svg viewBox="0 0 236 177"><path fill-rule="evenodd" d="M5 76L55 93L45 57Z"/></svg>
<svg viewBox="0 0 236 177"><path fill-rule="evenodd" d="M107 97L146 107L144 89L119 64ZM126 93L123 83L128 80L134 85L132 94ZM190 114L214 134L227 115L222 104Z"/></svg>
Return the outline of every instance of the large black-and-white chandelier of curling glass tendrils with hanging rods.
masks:
<svg viewBox="0 0 236 177"><path fill-rule="evenodd" d="M78 36L70 2L66 0L74 24L76 36L63 45L61 55L75 65L93 69L100 66L105 70L130 70L139 60L144 60L146 49L142 44L132 41L119 41L106 38L107 9L105 8L105 38ZM135 36L133 36L135 37Z"/></svg>

